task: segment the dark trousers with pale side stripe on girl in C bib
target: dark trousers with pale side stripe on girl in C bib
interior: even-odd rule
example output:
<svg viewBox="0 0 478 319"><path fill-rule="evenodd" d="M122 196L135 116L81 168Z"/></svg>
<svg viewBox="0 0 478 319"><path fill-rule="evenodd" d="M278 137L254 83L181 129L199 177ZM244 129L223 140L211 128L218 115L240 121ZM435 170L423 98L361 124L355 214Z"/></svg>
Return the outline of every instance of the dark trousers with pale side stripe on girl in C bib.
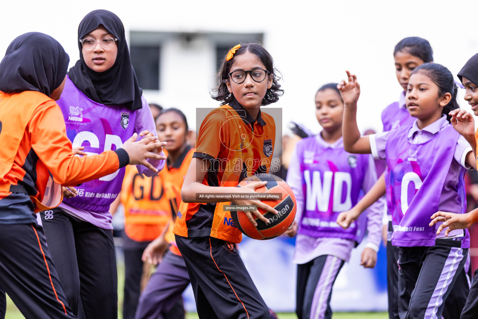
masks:
<svg viewBox="0 0 478 319"><path fill-rule="evenodd" d="M452 239L431 247L400 247L399 315L401 319L441 319L444 301L467 261L467 249Z"/></svg>

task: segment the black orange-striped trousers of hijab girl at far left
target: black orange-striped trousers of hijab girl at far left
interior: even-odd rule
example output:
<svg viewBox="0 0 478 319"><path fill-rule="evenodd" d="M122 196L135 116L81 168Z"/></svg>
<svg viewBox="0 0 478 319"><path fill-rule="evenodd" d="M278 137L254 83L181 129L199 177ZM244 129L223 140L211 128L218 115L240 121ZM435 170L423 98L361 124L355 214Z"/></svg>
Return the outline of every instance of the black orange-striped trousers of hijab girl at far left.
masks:
<svg viewBox="0 0 478 319"><path fill-rule="evenodd" d="M0 224L0 289L26 319L76 318L36 223Z"/></svg>

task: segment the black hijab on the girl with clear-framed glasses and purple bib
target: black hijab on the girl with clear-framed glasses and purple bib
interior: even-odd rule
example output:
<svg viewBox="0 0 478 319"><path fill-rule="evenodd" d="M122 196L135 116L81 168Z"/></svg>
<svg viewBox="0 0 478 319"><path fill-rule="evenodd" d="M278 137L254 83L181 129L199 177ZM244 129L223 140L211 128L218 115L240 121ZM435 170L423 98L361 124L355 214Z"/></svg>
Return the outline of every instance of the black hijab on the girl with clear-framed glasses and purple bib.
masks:
<svg viewBox="0 0 478 319"><path fill-rule="evenodd" d="M86 65L79 40L100 25L118 38L118 55L111 68L104 72L95 72ZM107 10L88 13L78 26L78 48L80 59L68 72L76 88L89 99L101 104L124 105L130 110L141 109L142 90L131 66L123 23L116 14Z"/></svg>

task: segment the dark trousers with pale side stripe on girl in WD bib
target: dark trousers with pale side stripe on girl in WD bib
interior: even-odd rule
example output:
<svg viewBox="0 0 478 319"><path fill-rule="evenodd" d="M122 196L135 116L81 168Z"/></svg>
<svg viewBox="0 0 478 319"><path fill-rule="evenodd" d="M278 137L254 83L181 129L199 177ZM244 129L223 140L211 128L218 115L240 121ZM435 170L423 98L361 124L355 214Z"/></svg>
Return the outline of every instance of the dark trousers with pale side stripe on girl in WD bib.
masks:
<svg viewBox="0 0 478 319"><path fill-rule="evenodd" d="M299 319L330 319L332 286L344 261L322 255L297 265L296 310Z"/></svg>

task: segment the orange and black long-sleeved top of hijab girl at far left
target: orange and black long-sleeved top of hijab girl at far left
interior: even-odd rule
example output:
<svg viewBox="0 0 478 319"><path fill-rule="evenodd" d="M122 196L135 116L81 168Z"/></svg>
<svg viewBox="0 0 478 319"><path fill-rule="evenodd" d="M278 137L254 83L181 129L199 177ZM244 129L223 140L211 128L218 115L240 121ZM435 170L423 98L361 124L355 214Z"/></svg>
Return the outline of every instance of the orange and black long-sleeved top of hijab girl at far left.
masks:
<svg viewBox="0 0 478 319"><path fill-rule="evenodd" d="M53 99L36 91L0 92L0 223L30 223L33 211L63 199L75 186L114 173L129 162L122 148L78 157Z"/></svg>

